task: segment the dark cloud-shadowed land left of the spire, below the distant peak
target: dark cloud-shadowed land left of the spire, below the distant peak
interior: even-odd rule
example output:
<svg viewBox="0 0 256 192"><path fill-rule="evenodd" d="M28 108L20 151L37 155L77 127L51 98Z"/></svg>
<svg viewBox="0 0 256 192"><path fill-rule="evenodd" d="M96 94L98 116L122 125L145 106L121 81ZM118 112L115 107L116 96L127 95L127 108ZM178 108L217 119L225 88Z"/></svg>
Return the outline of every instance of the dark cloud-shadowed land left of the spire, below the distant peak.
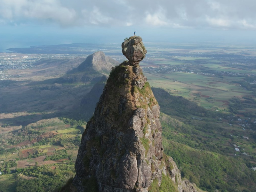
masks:
<svg viewBox="0 0 256 192"><path fill-rule="evenodd" d="M0 113L67 112L78 107L91 85L45 84L0 89Z"/></svg>

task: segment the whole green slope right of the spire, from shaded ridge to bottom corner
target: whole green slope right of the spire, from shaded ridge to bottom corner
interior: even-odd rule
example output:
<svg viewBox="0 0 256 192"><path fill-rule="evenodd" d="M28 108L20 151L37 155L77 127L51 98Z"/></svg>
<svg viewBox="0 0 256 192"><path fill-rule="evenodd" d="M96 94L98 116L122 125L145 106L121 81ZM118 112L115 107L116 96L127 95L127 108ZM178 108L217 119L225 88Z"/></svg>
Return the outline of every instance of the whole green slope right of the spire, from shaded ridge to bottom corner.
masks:
<svg viewBox="0 0 256 192"><path fill-rule="evenodd" d="M221 127L223 124L217 121L220 113L194 106L194 103L174 97L164 90L152 90L160 110L168 114L160 116L164 151L173 157L182 177L208 191L253 191L255 172L250 169L253 165L250 161L255 160L255 142L240 137L230 139L228 136L234 129ZM237 134L242 131L237 128ZM237 153L235 157L226 156L235 153L233 143L241 148L247 147L246 153L252 156L242 153Z"/></svg>

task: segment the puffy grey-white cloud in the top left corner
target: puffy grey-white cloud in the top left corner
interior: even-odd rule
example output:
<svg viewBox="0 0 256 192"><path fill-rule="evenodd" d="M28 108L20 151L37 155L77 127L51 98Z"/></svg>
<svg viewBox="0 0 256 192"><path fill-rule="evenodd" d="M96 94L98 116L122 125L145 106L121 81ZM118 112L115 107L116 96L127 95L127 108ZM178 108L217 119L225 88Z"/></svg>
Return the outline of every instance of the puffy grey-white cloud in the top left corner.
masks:
<svg viewBox="0 0 256 192"><path fill-rule="evenodd" d="M0 0L0 18L7 22L51 20L62 26L72 25L76 11L61 6L57 0Z"/></svg>

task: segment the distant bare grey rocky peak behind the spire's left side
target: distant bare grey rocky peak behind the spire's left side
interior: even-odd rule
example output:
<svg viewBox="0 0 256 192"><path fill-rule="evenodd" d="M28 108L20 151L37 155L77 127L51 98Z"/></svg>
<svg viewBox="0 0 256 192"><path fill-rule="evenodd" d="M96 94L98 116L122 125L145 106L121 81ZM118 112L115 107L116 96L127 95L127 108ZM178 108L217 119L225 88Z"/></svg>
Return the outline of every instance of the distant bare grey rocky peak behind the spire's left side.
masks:
<svg viewBox="0 0 256 192"><path fill-rule="evenodd" d="M88 68L93 68L96 71L108 74L112 67L117 64L118 62L116 60L105 56L104 52L98 51L89 55L86 60L77 67L77 69L79 71L84 71Z"/></svg>

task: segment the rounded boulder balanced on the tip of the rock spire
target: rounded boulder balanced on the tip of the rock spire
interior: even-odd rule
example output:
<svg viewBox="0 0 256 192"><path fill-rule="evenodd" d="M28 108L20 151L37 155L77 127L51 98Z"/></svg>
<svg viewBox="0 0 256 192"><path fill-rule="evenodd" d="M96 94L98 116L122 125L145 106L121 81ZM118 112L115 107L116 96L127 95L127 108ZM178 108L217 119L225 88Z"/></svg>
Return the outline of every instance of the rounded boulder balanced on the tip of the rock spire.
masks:
<svg viewBox="0 0 256 192"><path fill-rule="evenodd" d="M131 36L122 43L122 52L129 60L129 65L137 66L145 58L147 50L141 37Z"/></svg>

